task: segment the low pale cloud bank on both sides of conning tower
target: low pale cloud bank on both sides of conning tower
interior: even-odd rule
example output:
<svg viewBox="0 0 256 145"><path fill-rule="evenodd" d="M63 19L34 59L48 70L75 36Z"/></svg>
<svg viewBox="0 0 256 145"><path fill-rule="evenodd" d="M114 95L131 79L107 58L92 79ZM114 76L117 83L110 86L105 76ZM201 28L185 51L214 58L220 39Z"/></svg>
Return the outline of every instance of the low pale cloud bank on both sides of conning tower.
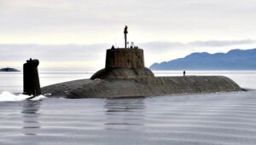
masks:
<svg viewBox="0 0 256 145"><path fill-rule="evenodd" d="M145 63L148 67L154 62L170 61L192 52L216 53L227 52L230 49L253 49L255 44L255 40L212 40L189 43L148 42L138 46L144 49ZM21 67L27 59L33 58L39 59L45 69L100 69L105 64L106 49L110 49L111 46L112 44L0 44L0 67L7 67L7 64Z"/></svg>

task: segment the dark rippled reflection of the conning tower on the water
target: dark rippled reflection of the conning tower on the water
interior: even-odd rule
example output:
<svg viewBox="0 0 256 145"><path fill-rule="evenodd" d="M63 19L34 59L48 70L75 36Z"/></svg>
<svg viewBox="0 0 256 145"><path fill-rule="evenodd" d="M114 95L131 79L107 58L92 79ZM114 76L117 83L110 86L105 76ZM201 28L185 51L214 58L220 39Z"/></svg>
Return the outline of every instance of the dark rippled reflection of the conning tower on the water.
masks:
<svg viewBox="0 0 256 145"><path fill-rule="evenodd" d="M144 98L137 99L108 99L104 106L107 108L105 123L106 130L131 130L144 124Z"/></svg>

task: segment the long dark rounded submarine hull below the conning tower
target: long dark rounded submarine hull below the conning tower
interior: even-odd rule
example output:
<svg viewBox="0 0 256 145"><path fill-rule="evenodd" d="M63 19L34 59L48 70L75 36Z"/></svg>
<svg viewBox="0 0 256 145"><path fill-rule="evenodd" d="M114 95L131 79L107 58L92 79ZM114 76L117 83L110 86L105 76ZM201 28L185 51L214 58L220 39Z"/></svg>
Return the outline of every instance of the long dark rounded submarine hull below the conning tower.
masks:
<svg viewBox="0 0 256 145"><path fill-rule="evenodd" d="M79 79L42 88L48 97L113 98L241 91L224 76Z"/></svg>

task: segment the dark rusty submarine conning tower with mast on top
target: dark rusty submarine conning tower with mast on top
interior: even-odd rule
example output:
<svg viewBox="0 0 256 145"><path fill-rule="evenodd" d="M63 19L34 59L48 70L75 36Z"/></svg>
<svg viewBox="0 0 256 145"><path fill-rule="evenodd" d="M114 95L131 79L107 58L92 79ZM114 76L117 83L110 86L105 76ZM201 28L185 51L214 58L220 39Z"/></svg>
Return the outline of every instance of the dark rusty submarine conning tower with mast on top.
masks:
<svg viewBox="0 0 256 145"><path fill-rule="evenodd" d="M96 72L90 79L96 78L152 78L152 73L144 65L143 49L137 46L127 47L128 27L125 26L125 48L107 49L105 68Z"/></svg>

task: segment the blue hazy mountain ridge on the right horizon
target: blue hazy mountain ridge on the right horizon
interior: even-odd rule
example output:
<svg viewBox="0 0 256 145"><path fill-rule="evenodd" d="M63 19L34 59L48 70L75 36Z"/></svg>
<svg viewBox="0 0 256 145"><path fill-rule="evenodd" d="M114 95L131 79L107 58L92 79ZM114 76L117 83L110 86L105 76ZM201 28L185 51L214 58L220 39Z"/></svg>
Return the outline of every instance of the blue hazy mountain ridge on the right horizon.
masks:
<svg viewBox="0 0 256 145"><path fill-rule="evenodd" d="M256 49L228 53L193 53L173 61L154 63L153 70L256 70Z"/></svg>

